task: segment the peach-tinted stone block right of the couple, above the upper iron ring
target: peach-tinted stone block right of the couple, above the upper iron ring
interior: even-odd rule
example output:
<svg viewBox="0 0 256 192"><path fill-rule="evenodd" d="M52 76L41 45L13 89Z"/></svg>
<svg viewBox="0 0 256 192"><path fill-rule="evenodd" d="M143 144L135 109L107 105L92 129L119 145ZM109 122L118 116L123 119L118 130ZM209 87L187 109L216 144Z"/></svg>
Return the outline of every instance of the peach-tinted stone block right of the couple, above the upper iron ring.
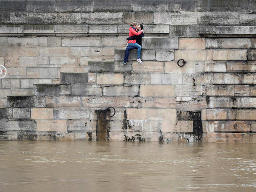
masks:
<svg viewBox="0 0 256 192"><path fill-rule="evenodd" d="M179 38L179 49L205 49L205 38Z"/></svg>

